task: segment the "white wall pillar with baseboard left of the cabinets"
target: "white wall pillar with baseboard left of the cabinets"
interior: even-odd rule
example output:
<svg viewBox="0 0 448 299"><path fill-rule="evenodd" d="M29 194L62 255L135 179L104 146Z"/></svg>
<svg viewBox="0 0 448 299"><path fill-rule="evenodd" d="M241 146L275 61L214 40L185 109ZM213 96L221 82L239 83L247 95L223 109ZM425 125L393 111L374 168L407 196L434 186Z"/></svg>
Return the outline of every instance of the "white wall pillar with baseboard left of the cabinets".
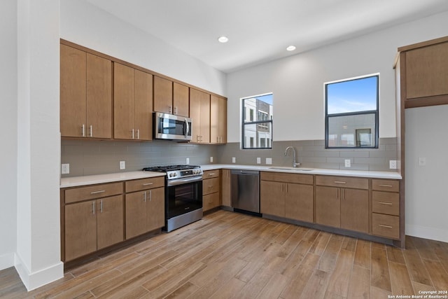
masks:
<svg viewBox="0 0 448 299"><path fill-rule="evenodd" d="M15 268L31 290L64 276L59 224L59 0L21 0L17 5Z"/></svg>

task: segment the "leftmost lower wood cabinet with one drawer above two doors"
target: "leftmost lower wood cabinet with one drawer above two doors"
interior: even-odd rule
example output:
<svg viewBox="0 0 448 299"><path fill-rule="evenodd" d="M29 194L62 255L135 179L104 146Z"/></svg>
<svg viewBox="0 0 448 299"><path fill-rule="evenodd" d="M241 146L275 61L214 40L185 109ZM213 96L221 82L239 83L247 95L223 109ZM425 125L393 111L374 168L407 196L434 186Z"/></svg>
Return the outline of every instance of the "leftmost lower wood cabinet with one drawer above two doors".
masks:
<svg viewBox="0 0 448 299"><path fill-rule="evenodd" d="M118 184L65 190L64 261L123 241L123 184L121 188ZM109 196L111 193L118 195Z"/></svg>

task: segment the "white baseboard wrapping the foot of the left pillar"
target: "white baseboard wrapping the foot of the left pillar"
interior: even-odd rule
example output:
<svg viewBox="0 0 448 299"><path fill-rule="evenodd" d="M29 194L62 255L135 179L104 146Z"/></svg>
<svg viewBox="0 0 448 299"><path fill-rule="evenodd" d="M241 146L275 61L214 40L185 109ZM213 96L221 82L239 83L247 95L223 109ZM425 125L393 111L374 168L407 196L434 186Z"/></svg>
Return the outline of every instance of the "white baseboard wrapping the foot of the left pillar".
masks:
<svg viewBox="0 0 448 299"><path fill-rule="evenodd" d="M31 273L28 267L22 263L22 259L18 254L15 254L15 270L17 270L28 291L64 277L64 263L59 262Z"/></svg>

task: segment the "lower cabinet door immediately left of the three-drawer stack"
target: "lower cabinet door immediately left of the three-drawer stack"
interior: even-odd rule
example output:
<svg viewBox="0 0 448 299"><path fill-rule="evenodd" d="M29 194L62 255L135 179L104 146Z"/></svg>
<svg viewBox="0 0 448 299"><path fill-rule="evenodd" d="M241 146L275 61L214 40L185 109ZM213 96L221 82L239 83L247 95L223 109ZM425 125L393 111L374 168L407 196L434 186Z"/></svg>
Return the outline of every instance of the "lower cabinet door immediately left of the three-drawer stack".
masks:
<svg viewBox="0 0 448 299"><path fill-rule="evenodd" d="M342 189L341 228L369 232L369 191Z"/></svg>

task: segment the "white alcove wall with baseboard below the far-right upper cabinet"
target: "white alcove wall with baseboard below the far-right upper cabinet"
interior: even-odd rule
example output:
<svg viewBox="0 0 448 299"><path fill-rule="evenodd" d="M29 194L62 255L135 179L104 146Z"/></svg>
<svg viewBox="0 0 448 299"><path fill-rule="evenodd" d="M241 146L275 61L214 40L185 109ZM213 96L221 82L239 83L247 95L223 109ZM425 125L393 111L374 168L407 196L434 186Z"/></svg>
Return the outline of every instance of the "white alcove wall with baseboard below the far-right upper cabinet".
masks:
<svg viewBox="0 0 448 299"><path fill-rule="evenodd" d="M405 113L406 234L448 242L448 105Z"/></svg>

